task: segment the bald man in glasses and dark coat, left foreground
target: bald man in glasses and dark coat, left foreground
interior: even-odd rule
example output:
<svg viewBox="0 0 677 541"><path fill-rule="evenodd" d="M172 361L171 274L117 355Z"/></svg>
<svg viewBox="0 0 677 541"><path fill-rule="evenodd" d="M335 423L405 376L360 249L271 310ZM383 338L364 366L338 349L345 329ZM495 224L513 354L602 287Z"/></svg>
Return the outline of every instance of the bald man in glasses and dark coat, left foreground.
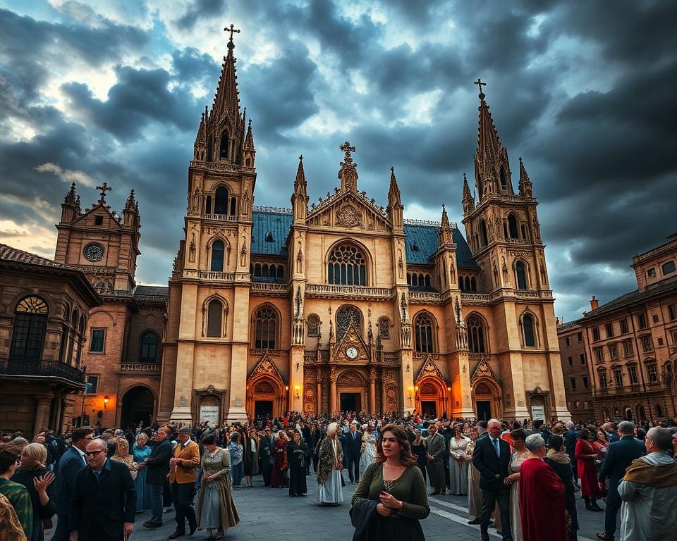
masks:
<svg viewBox="0 0 677 541"><path fill-rule="evenodd" d="M129 468L106 456L107 444L87 444L89 467L75 475L68 516L71 541L121 541L134 528L136 488Z"/></svg>

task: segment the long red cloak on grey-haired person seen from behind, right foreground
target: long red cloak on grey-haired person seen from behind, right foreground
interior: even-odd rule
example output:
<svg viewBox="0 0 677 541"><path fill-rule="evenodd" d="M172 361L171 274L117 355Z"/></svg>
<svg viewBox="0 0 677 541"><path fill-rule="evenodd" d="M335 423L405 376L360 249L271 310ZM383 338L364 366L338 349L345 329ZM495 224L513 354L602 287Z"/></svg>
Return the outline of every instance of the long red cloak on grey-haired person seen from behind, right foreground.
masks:
<svg viewBox="0 0 677 541"><path fill-rule="evenodd" d="M523 541L566 541L566 488L552 468L540 459L526 459L519 490Z"/></svg>

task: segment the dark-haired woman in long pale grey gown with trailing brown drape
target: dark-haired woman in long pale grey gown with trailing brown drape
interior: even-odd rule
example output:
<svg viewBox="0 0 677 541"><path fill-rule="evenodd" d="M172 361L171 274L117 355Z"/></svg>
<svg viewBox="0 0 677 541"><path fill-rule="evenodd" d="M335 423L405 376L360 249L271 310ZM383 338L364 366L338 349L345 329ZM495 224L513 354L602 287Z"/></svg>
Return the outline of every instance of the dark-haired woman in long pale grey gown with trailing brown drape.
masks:
<svg viewBox="0 0 677 541"><path fill-rule="evenodd" d="M227 449L216 445L216 436L202 438L202 481L197 493L197 526L207 530L207 539L223 539L224 532L240 522L231 491L231 458ZM216 530L216 536L212 532Z"/></svg>

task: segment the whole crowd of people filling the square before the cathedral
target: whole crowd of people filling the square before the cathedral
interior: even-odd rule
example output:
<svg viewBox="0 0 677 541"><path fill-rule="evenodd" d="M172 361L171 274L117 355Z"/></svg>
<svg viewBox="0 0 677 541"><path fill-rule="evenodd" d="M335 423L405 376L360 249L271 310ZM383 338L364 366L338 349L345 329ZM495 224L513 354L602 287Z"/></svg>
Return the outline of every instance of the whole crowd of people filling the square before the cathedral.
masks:
<svg viewBox="0 0 677 541"><path fill-rule="evenodd" d="M290 412L226 427L44 430L32 442L6 433L0 541L42 541L52 528L53 541L126 540L137 514L159 528L172 507L170 539L198 529L221 539L240 521L234 490L260 475L264 487L304 497L311 470L321 506L357 485L355 540L422 540L429 495L449 493L467 497L483 541L490 527L506 541L571 541L578 492L587 511L604 512L600 540L663 540L677 508L676 427Z"/></svg>

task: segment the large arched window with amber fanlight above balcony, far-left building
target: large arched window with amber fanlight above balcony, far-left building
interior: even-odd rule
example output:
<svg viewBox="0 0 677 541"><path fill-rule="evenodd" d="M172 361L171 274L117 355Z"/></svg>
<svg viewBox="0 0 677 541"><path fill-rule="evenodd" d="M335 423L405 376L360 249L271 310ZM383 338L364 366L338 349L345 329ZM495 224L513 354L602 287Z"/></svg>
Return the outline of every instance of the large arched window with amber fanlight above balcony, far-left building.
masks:
<svg viewBox="0 0 677 541"><path fill-rule="evenodd" d="M14 309L14 329L9 358L12 361L37 362L42 359L42 344L47 332L47 303L37 295L29 295L19 301ZM73 321L73 330L77 322ZM70 357L68 358L70 361Z"/></svg>

